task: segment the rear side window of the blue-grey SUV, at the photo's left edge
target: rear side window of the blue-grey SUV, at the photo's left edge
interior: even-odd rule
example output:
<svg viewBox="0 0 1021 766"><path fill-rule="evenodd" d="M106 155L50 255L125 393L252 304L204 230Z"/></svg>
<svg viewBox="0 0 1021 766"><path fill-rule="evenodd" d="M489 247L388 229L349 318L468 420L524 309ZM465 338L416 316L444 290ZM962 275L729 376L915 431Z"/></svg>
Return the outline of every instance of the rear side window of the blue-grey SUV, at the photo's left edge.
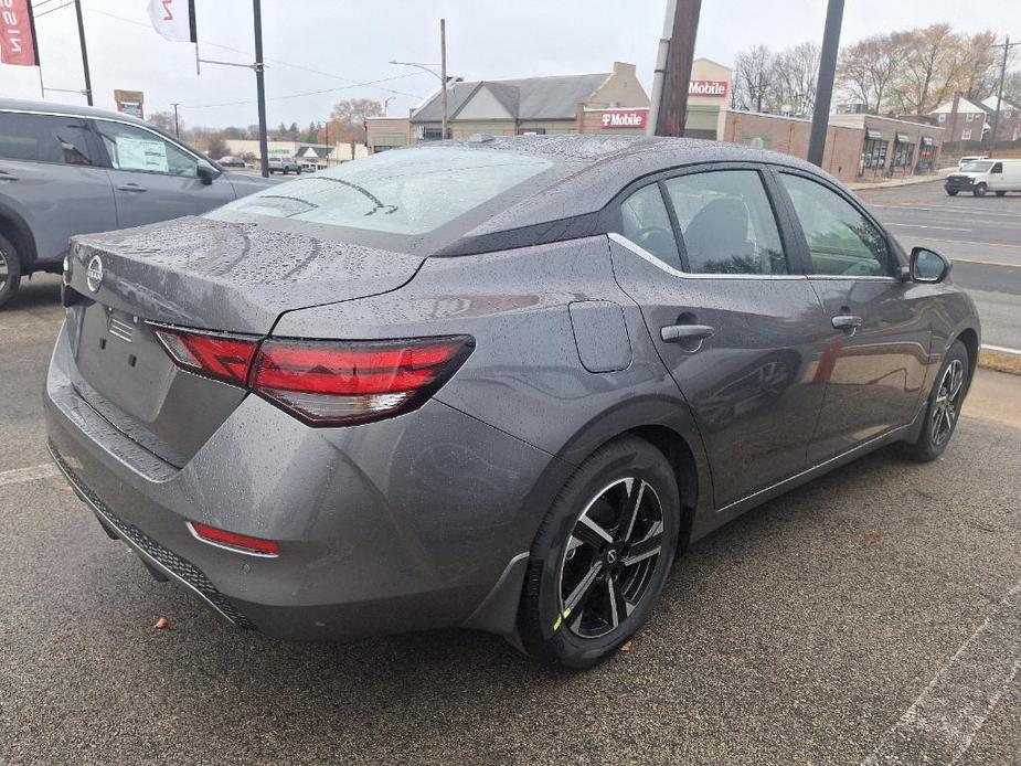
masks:
<svg viewBox="0 0 1021 766"><path fill-rule="evenodd" d="M30 162L97 164L76 117L0 111L0 157Z"/></svg>

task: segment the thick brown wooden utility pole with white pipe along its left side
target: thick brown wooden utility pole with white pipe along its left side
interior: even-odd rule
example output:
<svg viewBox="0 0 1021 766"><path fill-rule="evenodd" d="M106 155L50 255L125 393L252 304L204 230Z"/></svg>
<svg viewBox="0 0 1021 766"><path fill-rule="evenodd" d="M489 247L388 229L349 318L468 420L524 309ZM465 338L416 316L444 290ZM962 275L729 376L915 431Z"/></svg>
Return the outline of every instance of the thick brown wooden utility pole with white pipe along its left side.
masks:
<svg viewBox="0 0 1021 766"><path fill-rule="evenodd" d="M656 136L684 135L691 62L694 58L701 12L702 0L669 0L667 3L663 38L660 40L660 61L657 61L656 72L657 78L661 82L660 93L652 103L652 114L649 115L649 124ZM652 93L655 97L655 85Z"/></svg>

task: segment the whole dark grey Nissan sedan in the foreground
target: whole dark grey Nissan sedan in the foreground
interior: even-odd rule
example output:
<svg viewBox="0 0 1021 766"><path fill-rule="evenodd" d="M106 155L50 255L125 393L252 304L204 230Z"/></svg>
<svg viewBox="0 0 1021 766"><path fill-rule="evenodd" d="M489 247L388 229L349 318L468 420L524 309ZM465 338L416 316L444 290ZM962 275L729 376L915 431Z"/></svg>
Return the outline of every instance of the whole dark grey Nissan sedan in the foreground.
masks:
<svg viewBox="0 0 1021 766"><path fill-rule="evenodd" d="M690 542L884 445L946 449L980 342L949 273L778 153L387 151L76 237L50 448L235 626L459 626L585 668Z"/></svg>

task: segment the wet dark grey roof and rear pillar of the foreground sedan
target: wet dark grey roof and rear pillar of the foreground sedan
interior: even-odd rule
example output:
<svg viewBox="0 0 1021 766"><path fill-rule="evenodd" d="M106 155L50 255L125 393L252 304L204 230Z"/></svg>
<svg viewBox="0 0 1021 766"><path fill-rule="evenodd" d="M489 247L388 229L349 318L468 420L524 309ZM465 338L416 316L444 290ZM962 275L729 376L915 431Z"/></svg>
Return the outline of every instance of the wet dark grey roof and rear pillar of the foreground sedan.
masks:
<svg viewBox="0 0 1021 766"><path fill-rule="evenodd" d="M525 226L595 213L621 189L646 175L671 168L714 162L755 162L795 168L843 187L817 166L775 151L699 138L660 136L475 136L464 141L435 141L425 147L513 151L553 160L559 166L546 179L536 178L533 194L515 201L482 222L466 238L482 237ZM543 185L545 183L545 185ZM541 193L539 193L541 192Z"/></svg>

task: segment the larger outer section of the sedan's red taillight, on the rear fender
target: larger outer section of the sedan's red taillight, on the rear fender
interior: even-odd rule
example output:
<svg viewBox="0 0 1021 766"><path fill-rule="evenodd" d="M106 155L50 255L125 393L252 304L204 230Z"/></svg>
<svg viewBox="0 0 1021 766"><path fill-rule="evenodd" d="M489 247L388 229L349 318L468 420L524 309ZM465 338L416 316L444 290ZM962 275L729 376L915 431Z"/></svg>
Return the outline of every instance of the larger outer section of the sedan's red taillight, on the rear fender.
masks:
<svg viewBox="0 0 1021 766"><path fill-rule="evenodd" d="M460 366L467 336L400 341L265 341L251 389L311 425L375 421L418 406Z"/></svg>

